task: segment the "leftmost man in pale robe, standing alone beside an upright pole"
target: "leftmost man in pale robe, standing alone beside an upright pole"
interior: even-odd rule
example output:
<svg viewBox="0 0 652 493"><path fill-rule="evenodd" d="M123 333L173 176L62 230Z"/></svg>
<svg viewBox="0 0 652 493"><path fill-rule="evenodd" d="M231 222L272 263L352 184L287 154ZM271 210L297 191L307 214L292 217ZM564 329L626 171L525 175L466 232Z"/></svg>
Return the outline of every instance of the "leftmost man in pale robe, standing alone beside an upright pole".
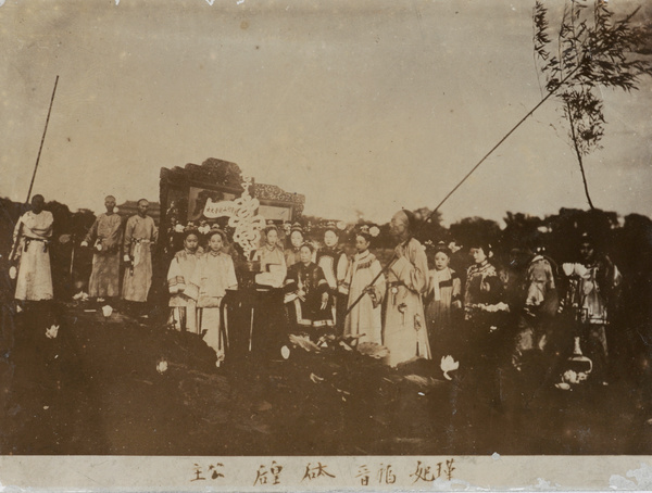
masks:
<svg viewBox="0 0 652 493"><path fill-rule="evenodd" d="M45 199L34 195L32 211L21 216L14 229L14 244L20 255L15 299L21 301L52 300L50 238L54 217L43 211Z"/></svg>

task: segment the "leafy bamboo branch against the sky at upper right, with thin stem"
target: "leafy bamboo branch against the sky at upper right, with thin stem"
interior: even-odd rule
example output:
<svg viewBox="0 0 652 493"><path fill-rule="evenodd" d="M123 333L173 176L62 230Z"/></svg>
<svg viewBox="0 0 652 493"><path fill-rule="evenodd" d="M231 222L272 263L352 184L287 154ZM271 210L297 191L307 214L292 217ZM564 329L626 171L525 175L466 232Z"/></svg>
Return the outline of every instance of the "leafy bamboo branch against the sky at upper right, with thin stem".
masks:
<svg viewBox="0 0 652 493"><path fill-rule="evenodd" d="M606 123L599 88L631 92L638 89L641 76L652 75L650 60L640 54L650 31L632 22L638 10L615 21L603 0L595 0L592 9L568 0L553 42L548 9L540 0L534 8L532 45L538 71L546 78L546 90L560 101L591 208L585 157L600 149ZM552 55L554 51L556 55Z"/></svg>

